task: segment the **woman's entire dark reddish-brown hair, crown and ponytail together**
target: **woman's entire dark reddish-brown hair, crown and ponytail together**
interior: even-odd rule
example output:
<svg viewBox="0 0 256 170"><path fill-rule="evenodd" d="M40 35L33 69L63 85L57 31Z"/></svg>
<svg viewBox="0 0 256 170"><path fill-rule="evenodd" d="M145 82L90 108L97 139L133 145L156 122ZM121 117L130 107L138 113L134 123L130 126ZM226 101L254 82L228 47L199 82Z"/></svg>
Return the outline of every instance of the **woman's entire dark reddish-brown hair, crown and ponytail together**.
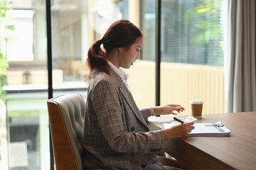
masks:
<svg viewBox="0 0 256 170"><path fill-rule="evenodd" d="M95 41L88 50L87 65L90 72L86 79L90 80L92 72L96 70L107 74L110 73L110 66L100 45L103 44L106 53L108 53L113 48L129 47L141 36L142 31L128 20L119 20L112 23L102 39Z"/></svg>

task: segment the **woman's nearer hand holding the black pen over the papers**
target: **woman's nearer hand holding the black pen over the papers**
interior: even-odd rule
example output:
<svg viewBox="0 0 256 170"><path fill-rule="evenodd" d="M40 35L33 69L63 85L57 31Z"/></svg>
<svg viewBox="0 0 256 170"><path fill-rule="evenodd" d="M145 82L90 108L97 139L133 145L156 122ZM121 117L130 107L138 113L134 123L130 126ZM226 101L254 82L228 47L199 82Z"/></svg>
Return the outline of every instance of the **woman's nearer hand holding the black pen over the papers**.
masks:
<svg viewBox="0 0 256 170"><path fill-rule="evenodd" d="M186 137L186 135L188 135L188 133L191 132L191 130L194 128L195 127L193 126L193 122L175 125L164 130L164 138L165 140L171 140L178 137Z"/></svg>

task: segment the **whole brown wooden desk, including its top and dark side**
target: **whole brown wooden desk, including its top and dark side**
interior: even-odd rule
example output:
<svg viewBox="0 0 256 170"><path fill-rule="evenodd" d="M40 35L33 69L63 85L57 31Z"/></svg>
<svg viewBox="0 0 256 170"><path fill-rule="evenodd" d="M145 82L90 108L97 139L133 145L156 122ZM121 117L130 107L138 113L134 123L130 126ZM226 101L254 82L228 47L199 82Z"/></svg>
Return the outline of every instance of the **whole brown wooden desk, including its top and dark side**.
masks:
<svg viewBox="0 0 256 170"><path fill-rule="evenodd" d="M178 117L178 116L177 116ZM230 137L185 137L166 141L166 153L189 169L255 169L256 112L203 115L196 123L220 120ZM163 128L149 123L150 128Z"/></svg>

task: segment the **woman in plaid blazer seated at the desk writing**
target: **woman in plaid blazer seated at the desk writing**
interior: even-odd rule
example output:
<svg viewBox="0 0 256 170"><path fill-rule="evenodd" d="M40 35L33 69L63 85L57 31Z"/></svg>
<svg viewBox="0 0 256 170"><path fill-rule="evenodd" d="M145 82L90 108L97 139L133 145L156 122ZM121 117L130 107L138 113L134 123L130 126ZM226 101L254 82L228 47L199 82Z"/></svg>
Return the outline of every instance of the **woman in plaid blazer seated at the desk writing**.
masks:
<svg viewBox="0 0 256 170"><path fill-rule="evenodd" d="M88 87L84 149L92 169L165 169L156 157L165 140L186 137L193 123L151 132L146 120L154 113L176 114L178 105L137 108L127 86L129 69L140 57L143 35L127 20L112 23L88 51ZM100 47L103 45L104 51ZM167 168L166 168L167 169Z"/></svg>

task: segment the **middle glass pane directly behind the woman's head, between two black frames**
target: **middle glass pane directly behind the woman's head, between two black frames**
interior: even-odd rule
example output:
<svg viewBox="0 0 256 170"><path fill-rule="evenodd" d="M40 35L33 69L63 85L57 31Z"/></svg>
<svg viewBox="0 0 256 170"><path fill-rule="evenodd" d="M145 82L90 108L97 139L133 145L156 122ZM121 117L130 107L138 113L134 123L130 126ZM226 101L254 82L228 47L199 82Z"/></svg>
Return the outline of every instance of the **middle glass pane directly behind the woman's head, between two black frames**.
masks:
<svg viewBox="0 0 256 170"><path fill-rule="evenodd" d="M129 19L136 26L142 26L139 22L139 11L144 6L139 7L139 1L134 0L53 1L51 18L54 96L65 94L67 90L72 89L86 98L86 59L90 45L101 39L107 28L119 19ZM144 16L142 20L144 21ZM143 30L146 31L146 27ZM145 52L150 49L144 46ZM151 59L153 57L151 56ZM138 106L154 105L154 79L151 79L154 78L154 62L141 60L131 69L125 69L125 72L129 74L129 88ZM146 74L148 72L150 74ZM148 76L145 77L145 74Z"/></svg>

